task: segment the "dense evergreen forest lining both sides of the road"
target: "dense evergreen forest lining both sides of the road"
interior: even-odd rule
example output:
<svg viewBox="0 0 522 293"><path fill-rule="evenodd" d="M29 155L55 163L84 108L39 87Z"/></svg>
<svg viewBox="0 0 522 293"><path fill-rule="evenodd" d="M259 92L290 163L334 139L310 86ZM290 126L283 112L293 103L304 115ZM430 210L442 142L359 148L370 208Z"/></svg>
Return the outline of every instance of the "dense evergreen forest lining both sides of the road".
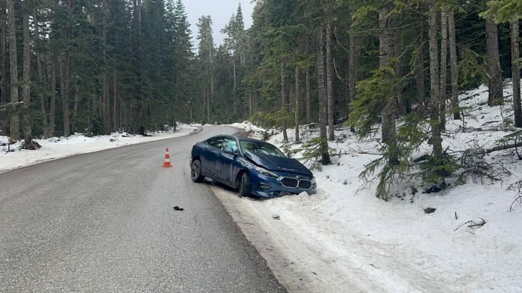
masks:
<svg viewBox="0 0 522 293"><path fill-rule="evenodd" d="M326 165L335 127L349 127L379 134L380 157L361 178L377 172L386 198L414 164L438 183L464 168L443 148L446 120L468 116L461 91L487 84L489 106L513 104L504 147L519 145L520 83L512 97L503 86L520 79L521 1L253 2L253 25L239 6L216 46L212 16L191 32L182 0L0 1L0 134L34 149L33 138L176 122L249 120L286 140L294 129L295 141L300 125L316 125L305 147ZM425 142L432 154L414 157ZM474 162L468 174L484 166Z"/></svg>

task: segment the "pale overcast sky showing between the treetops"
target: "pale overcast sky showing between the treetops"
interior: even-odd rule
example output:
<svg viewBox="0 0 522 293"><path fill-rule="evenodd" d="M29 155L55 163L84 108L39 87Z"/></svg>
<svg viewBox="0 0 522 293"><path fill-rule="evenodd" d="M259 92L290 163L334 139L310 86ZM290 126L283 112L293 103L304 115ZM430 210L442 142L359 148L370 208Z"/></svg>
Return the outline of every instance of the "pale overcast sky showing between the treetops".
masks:
<svg viewBox="0 0 522 293"><path fill-rule="evenodd" d="M214 32L214 42L216 46L223 43L225 37L221 33L221 29L228 24L232 13L236 13L237 6L241 2L243 9L245 29L252 25L252 10L254 4L251 0L184 0L183 3L189 15L189 22L192 31L192 44L197 47L196 36L198 35L198 18L201 15L210 15L212 17L212 31Z"/></svg>

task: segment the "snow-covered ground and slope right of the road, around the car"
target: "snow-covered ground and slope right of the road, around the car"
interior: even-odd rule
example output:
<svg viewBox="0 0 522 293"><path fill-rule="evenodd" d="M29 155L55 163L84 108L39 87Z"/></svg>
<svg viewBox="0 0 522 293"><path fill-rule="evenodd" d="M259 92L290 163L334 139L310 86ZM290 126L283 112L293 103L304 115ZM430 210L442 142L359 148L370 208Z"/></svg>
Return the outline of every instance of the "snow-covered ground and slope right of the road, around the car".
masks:
<svg viewBox="0 0 522 293"><path fill-rule="evenodd" d="M512 100L511 95L507 84L505 96ZM459 98L461 106L470 107L464 120L466 132L461 120L448 116L444 147L464 150L476 140L491 148L509 134L500 126L512 116L512 102L487 106L485 86ZM259 136L260 129L248 123L235 126ZM302 127L301 132L303 141L317 136L317 129ZM376 143L358 141L348 129L337 129L335 135L338 140L330 143L331 148L348 155L314 171L315 195L239 199L214 187L291 291L522 292L522 206L508 212L516 192L507 190L522 179L522 161L512 150L491 152L487 158L502 162L512 172L502 183L453 184L427 194L419 182L404 182L393 189L397 196L385 202L375 198L374 186L359 190L358 174L377 156L358 150L375 152ZM289 130L288 136L292 140L294 132ZM282 141L282 134L269 140L280 147ZM422 145L416 156L430 150ZM426 214L427 207L436 211ZM272 219L274 214L280 220ZM485 225L468 227L482 219ZM466 224L459 228L462 223ZM262 241L248 232L253 226L264 233Z"/></svg>

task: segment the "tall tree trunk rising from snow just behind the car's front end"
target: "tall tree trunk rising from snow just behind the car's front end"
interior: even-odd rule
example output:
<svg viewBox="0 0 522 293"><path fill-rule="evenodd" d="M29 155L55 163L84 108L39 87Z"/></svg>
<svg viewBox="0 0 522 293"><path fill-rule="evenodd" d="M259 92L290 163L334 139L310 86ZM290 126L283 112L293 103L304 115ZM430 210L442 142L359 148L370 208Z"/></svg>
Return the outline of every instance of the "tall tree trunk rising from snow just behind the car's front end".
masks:
<svg viewBox="0 0 522 293"><path fill-rule="evenodd" d="M317 29L317 88L319 89L319 136L321 138L321 161L330 164L328 140L326 137L326 88L324 87L324 38L323 27Z"/></svg>

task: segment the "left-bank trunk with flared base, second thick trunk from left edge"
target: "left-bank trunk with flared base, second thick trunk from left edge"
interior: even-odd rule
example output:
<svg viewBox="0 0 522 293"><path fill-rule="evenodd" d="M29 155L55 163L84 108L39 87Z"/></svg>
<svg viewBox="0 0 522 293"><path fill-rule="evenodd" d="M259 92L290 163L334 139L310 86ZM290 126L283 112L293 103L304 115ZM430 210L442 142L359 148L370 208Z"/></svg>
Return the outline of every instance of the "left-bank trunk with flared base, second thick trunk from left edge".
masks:
<svg viewBox="0 0 522 293"><path fill-rule="evenodd" d="M29 150L38 148L33 143L31 129L31 45L29 42L29 0L24 0L22 7L22 35L24 37L24 72L22 84L22 98L24 99L24 143Z"/></svg>

